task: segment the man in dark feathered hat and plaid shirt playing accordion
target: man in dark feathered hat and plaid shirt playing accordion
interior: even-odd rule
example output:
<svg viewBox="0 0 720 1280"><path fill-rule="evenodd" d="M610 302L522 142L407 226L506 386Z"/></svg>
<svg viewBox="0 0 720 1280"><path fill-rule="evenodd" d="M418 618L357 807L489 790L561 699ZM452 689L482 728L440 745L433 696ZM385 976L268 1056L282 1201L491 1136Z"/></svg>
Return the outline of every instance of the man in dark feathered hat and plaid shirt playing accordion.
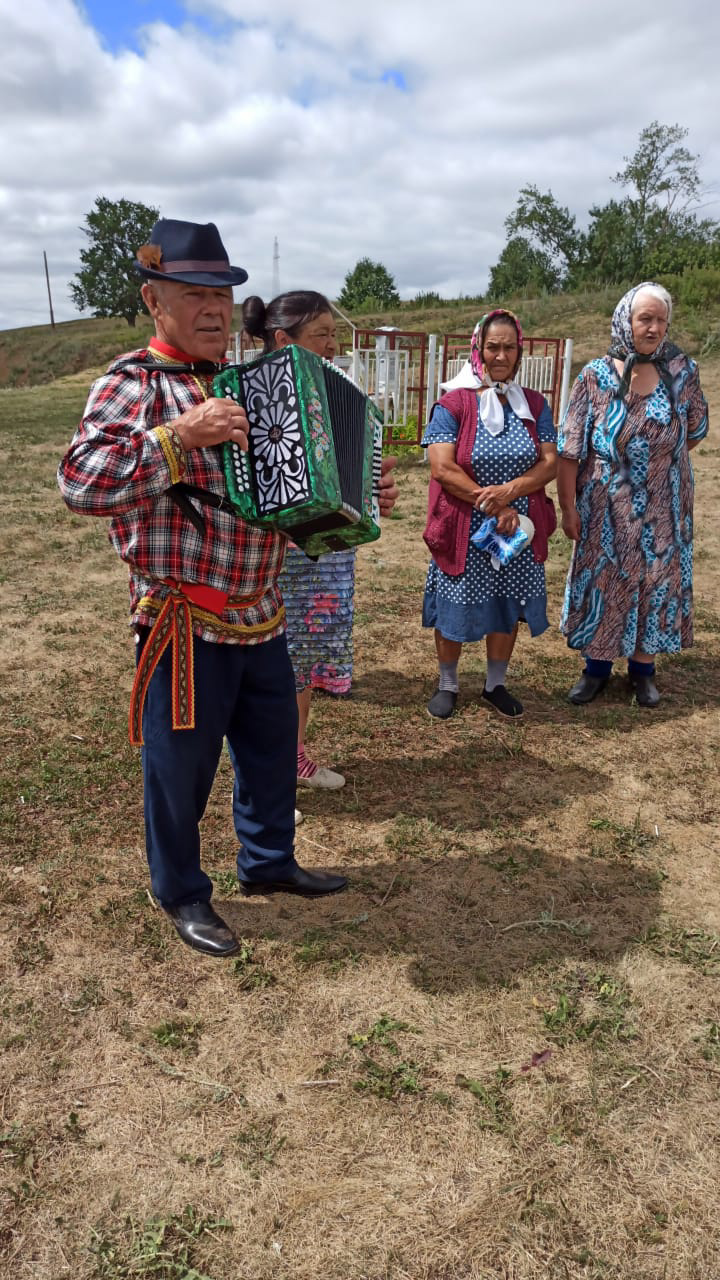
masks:
<svg viewBox="0 0 720 1280"><path fill-rule="evenodd" d="M58 480L73 512L110 517L129 568L131 740L142 744L152 891L183 942L224 956L237 940L211 906L199 833L224 737L241 891L314 897L347 882L293 854L297 705L277 585L286 538L245 524L225 498L218 445L247 448L249 424L211 384L247 273L229 265L213 223L160 219L137 256L155 337L94 384Z"/></svg>

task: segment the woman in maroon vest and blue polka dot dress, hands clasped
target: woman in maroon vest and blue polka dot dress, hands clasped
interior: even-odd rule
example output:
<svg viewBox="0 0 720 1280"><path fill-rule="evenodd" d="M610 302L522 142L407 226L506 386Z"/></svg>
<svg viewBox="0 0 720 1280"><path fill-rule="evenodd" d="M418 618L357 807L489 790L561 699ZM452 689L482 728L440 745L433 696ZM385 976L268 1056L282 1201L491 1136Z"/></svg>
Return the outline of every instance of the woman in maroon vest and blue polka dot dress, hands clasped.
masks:
<svg viewBox="0 0 720 1280"><path fill-rule="evenodd" d="M497 531L512 534L543 486L555 476L555 426L542 396L520 388L515 374L523 330L511 311L491 311L473 334L469 365L450 394L434 406L423 444L433 475L425 541L433 553L423 602L423 626L434 628L439 664L430 716L446 719L457 701L462 645L484 639L483 699L501 716L523 714L505 686L506 671L524 621L530 635L547 628L544 567L548 529L509 564L470 540L488 516ZM533 401L530 407L529 401Z"/></svg>

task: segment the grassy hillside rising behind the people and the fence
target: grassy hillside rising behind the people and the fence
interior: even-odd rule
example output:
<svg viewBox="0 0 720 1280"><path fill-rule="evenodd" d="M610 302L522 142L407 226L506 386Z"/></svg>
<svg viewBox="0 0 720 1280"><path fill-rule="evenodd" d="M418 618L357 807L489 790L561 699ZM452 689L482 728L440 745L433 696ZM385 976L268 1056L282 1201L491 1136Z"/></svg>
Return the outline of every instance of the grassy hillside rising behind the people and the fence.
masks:
<svg viewBox="0 0 720 1280"><path fill-rule="evenodd" d="M675 280L666 279L675 298L673 335L692 355L720 347L720 271L694 271ZM543 298L512 298L528 334L547 338L573 338L575 362L584 364L605 351L610 316L623 285L583 293L553 294ZM369 329L396 325L425 333L470 333L491 303L455 300L439 306L404 302L392 311L352 316L356 325ZM241 326L240 307L234 311ZM0 332L0 387L32 387L68 374L97 370L113 356L142 346L151 333L149 317L140 316L135 329L124 320L68 320L55 325ZM350 334L341 332L341 338Z"/></svg>

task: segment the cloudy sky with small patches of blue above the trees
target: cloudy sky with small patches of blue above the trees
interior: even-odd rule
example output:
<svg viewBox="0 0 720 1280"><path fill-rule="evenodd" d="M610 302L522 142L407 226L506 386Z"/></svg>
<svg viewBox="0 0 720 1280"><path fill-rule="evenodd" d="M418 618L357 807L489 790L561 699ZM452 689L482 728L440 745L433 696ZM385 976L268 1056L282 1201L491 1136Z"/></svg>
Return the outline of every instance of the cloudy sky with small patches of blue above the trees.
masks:
<svg viewBox="0 0 720 1280"><path fill-rule="evenodd" d="M0 328L56 319L97 195L215 221L272 287L484 289L519 188L580 221L657 119L720 218L716 0L0 0Z"/></svg>

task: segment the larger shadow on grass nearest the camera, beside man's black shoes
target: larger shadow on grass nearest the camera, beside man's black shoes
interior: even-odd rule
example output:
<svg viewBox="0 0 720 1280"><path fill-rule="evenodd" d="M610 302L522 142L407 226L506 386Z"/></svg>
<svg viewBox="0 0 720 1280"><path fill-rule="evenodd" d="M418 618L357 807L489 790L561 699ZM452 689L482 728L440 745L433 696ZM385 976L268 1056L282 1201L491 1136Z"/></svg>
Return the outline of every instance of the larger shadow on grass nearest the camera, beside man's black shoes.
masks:
<svg viewBox="0 0 720 1280"><path fill-rule="evenodd" d="M309 966L337 972L401 956L411 982L437 993L507 987L550 961L602 964L642 937L659 911L660 876L650 868L521 844L343 869L350 890L341 896L232 899L220 910L243 938L270 933Z"/></svg>

